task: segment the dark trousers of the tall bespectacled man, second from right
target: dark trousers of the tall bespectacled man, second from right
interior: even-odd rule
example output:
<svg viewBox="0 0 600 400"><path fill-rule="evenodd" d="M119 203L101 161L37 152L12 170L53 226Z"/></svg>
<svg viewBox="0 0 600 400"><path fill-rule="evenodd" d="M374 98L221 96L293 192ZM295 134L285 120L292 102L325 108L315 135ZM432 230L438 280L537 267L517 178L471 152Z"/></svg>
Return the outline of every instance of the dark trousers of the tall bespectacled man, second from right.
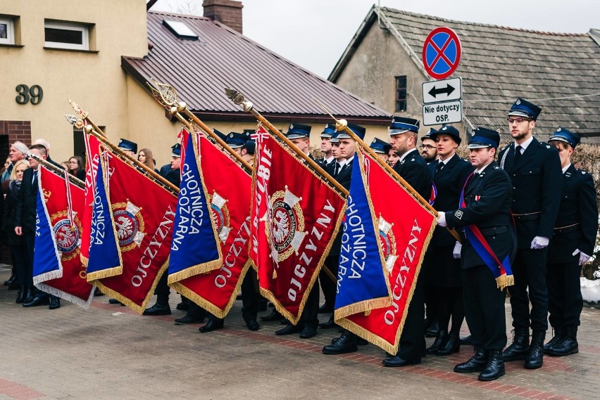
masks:
<svg viewBox="0 0 600 400"><path fill-rule="evenodd" d="M546 332L548 329L548 288L546 257L548 247L519 249L513 263L515 285L511 292L513 327ZM527 289L529 294L527 295ZM531 302L531 312L529 304Z"/></svg>

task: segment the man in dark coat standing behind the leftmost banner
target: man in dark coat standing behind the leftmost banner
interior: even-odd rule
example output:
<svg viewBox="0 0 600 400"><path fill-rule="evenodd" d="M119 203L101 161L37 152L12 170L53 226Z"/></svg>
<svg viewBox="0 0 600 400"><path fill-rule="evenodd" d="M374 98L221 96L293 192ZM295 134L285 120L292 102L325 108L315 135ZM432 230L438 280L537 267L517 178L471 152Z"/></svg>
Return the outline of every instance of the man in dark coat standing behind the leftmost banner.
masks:
<svg viewBox="0 0 600 400"><path fill-rule="evenodd" d="M46 147L41 144L30 146L30 153L46 160ZM27 255L27 297L23 299L23 307L48 305L49 309L61 307L61 300L54 295L48 295L33 286L33 252L35 245L35 220L37 215L37 194L39 193L37 170L39 162L30 157L31 168L23 172L23 183L15 207L15 233L23 236L25 253Z"/></svg>

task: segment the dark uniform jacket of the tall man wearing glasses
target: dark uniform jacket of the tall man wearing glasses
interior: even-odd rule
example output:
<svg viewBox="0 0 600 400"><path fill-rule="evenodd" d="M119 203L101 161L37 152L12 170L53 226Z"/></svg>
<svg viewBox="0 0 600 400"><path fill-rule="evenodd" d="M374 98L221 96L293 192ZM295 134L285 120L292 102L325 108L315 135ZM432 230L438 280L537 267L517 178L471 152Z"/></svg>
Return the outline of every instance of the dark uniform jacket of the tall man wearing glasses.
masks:
<svg viewBox="0 0 600 400"><path fill-rule="evenodd" d="M513 183L518 248L530 248L535 236L551 238L561 202L561 159L556 148L533 138L515 165L513 142L500 151L498 160Z"/></svg>

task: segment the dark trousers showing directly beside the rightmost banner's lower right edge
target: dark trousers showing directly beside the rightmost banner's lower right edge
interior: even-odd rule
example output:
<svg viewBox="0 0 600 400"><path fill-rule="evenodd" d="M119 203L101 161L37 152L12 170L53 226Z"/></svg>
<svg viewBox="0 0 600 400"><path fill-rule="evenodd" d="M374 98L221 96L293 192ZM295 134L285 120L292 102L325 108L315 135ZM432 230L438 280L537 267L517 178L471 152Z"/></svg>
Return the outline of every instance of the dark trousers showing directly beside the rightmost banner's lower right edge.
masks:
<svg viewBox="0 0 600 400"><path fill-rule="evenodd" d="M400 335L400 348L396 354L406 361L418 361L425 353L425 337L423 330L425 321L425 302L423 300L425 281L419 277L415 284L413 298L408 304L408 313L404 321L402 335Z"/></svg>

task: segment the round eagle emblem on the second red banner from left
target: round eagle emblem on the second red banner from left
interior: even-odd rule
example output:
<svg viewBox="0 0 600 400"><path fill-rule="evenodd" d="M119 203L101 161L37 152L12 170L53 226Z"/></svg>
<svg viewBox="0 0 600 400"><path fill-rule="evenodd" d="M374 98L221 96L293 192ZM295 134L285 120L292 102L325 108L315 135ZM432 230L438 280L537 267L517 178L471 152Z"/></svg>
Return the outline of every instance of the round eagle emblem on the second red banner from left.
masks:
<svg viewBox="0 0 600 400"><path fill-rule="evenodd" d="M113 218L121 251L127 252L144 240L144 218L140 208L132 202L119 202L113 205Z"/></svg>

